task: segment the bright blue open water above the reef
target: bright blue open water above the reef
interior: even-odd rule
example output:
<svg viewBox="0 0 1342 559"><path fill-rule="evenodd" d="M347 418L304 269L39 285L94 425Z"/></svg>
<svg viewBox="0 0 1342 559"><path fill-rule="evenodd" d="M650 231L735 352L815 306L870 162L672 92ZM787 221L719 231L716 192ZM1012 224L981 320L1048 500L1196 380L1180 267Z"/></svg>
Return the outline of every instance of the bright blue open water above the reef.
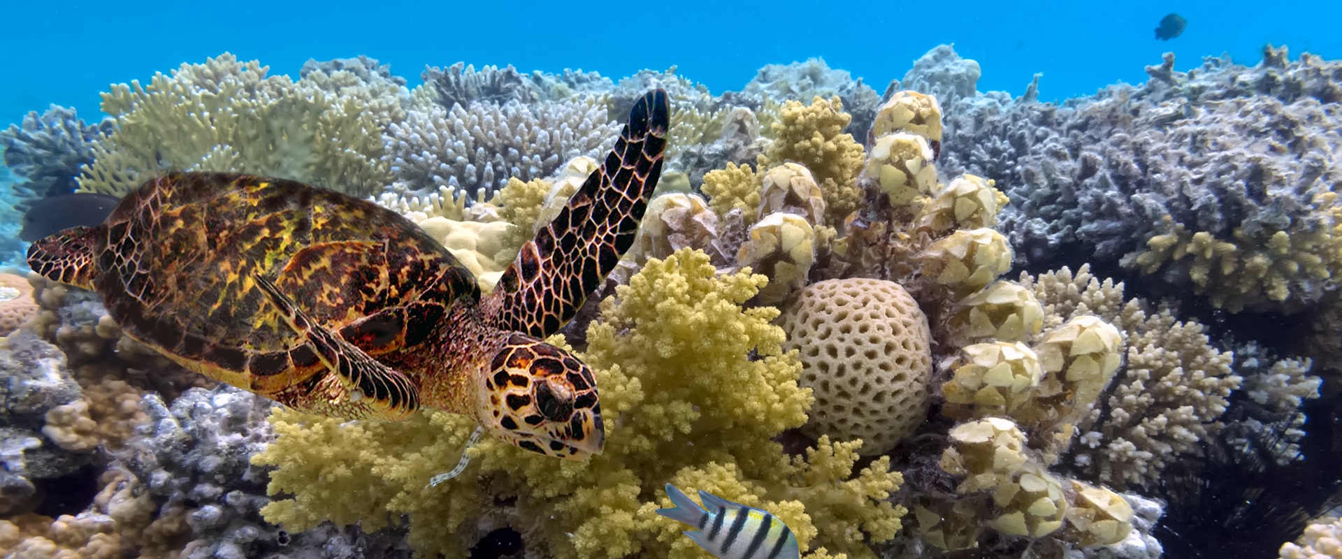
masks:
<svg viewBox="0 0 1342 559"><path fill-rule="evenodd" d="M1153 29L1177 12L1180 38ZM641 68L678 72L714 94L738 90L765 64L823 56L883 91L914 59L942 43L984 70L978 88L1024 91L1043 72L1041 99L1086 95L1173 51L1177 68L1229 52L1253 64L1264 43L1342 56L1342 3L361 3L9 1L0 125L50 103L98 115L111 83L148 82L183 62L224 51L297 75L309 58L368 55L419 83L424 64L463 60L521 71L582 68L619 79Z"/></svg>

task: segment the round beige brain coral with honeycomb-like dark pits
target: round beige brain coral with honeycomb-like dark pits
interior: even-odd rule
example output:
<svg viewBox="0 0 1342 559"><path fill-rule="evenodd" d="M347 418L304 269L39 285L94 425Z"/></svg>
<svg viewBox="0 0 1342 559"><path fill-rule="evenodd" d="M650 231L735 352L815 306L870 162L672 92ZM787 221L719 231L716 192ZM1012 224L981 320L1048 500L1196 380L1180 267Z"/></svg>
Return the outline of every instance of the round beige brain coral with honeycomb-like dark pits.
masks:
<svg viewBox="0 0 1342 559"><path fill-rule="evenodd" d="M860 437L863 454L879 454L923 421L931 334L903 287L866 277L815 283L788 304L781 326L816 398L811 434Z"/></svg>

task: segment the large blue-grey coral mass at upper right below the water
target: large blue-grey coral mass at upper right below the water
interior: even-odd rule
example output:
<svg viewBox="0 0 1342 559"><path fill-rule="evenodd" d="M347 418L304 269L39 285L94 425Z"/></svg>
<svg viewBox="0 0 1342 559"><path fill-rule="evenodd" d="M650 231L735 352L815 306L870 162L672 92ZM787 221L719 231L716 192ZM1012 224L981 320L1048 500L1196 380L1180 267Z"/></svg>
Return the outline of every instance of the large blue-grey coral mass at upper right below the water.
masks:
<svg viewBox="0 0 1342 559"><path fill-rule="evenodd" d="M1208 58L1176 72L1166 55L1142 86L1057 106L976 94L977 64L927 56L942 64L906 82L957 91L942 99L958 139L941 169L1009 185L1004 231L1024 263L1122 261L1232 312L1300 311L1342 271L1335 63L1268 48L1252 68Z"/></svg>

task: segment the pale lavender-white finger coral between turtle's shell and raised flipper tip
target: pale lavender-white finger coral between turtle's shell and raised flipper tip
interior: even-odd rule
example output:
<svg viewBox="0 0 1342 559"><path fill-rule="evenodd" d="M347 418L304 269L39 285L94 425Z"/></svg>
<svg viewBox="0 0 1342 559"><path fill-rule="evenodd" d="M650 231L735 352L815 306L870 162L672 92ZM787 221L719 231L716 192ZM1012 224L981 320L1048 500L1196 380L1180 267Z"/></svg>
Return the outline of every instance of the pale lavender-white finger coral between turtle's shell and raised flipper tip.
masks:
<svg viewBox="0 0 1342 559"><path fill-rule="evenodd" d="M423 196L448 186L487 198L509 178L544 178L576 157L597 157L617 135L604 101L581 98L417 109L391 125L382 142L393 192Z"/></svg>

